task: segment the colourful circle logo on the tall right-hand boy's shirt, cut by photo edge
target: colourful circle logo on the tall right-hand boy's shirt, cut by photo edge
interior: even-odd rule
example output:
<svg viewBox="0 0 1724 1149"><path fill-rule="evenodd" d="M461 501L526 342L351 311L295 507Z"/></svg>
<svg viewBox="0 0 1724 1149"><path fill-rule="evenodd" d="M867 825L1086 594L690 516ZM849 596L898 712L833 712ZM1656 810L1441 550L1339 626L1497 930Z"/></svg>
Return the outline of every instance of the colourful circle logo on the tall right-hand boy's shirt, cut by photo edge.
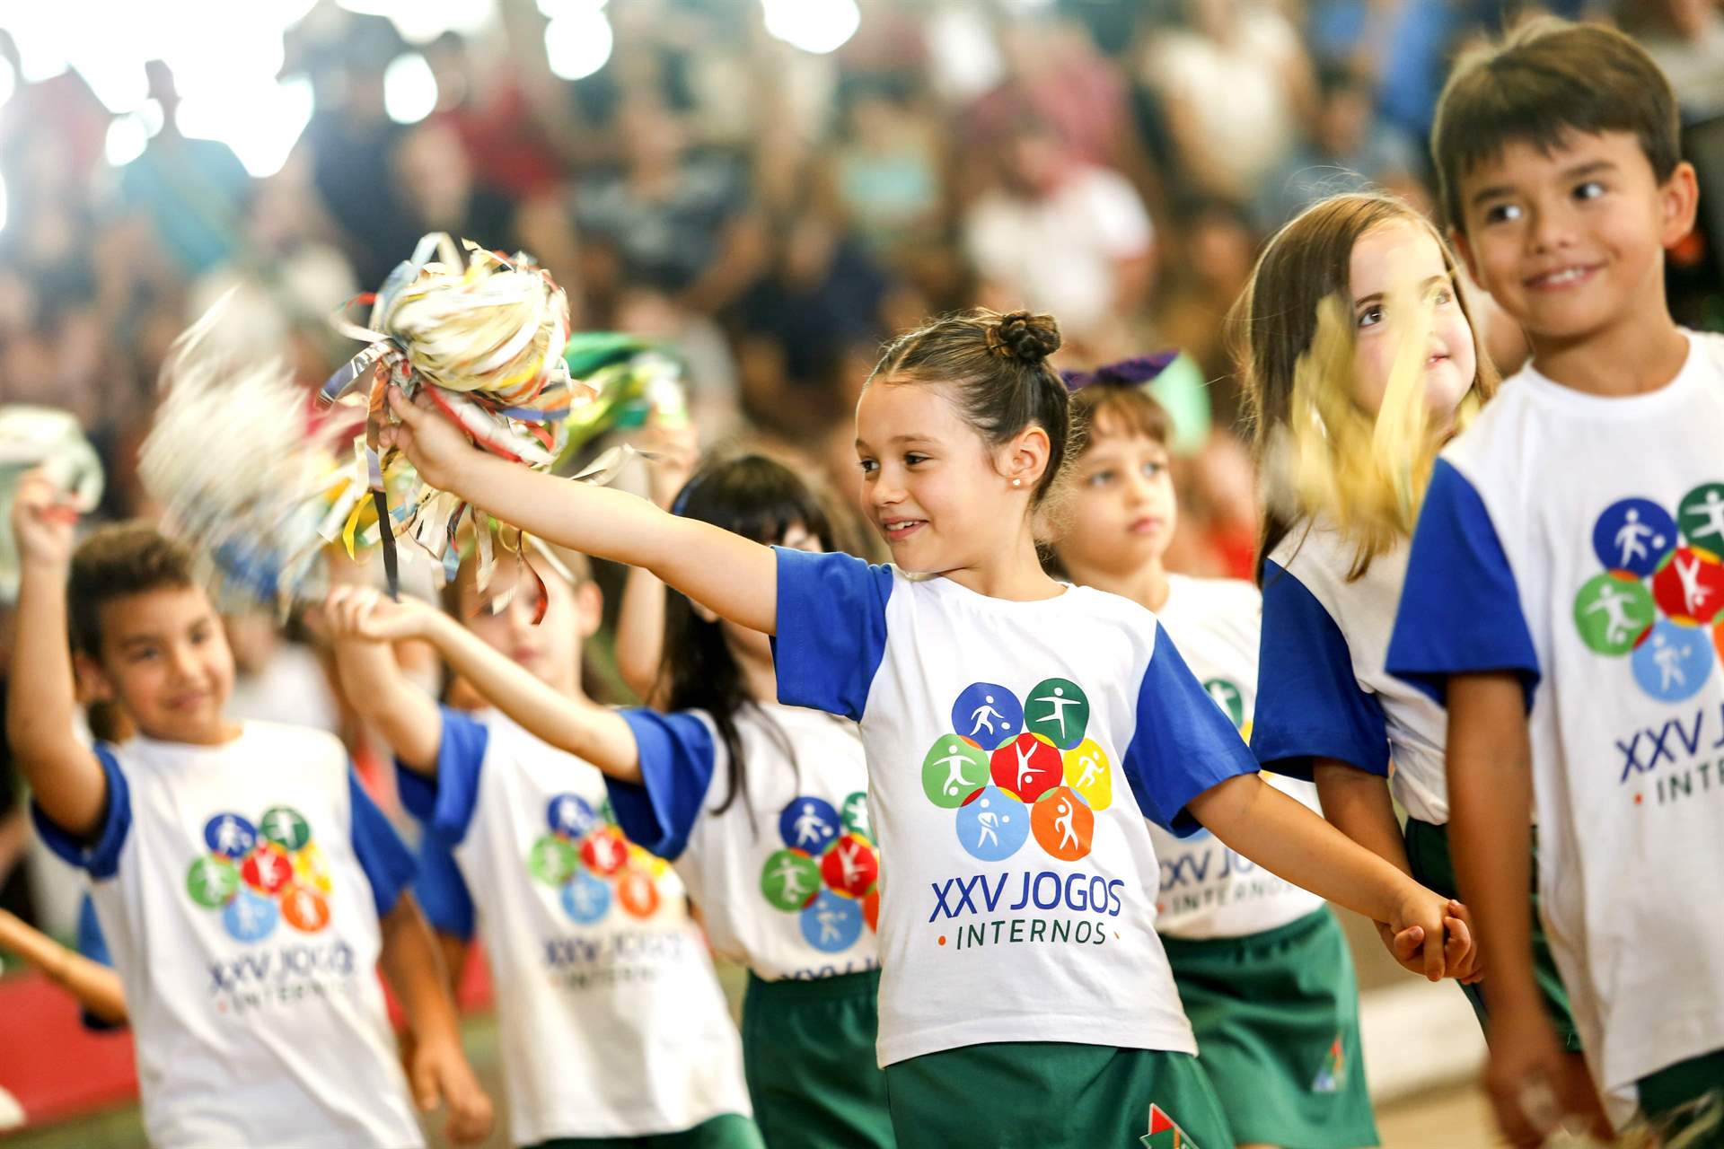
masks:
<svg viewBox="0 0 1724 1149"><path fill-rule="evenodd" d="M1724 482L1703 482L1672 517L1652 500L1617 500L1593 524L1603 572L1574 596L1581 643L1627 658L1660 703L1700 693L1724 646Z"/></svg>

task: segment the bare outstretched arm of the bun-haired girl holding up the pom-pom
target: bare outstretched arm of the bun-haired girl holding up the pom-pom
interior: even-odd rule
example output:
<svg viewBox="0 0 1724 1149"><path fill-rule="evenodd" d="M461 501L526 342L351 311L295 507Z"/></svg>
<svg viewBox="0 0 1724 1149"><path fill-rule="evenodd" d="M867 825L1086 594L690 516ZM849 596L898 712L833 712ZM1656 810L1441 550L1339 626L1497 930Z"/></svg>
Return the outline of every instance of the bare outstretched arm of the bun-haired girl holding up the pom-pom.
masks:
<svg viewBox="0 0 1724 1149"><path fill-rule="evenodd" d="M402 420L383 443L400 448L426 482L571 550L645 567L731 622L778 632L778 560L772 548L712 524L678 519L634 494L569 482L486 455L421 394L390 388Z"/></svg>

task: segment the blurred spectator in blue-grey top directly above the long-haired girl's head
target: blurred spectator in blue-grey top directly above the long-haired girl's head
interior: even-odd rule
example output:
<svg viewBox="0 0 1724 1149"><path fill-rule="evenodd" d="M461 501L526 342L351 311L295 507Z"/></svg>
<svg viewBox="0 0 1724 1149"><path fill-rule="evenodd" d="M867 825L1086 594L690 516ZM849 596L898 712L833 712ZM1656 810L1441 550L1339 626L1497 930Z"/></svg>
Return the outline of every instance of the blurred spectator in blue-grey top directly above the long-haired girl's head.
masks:
<svg viewBox="0 0 1724 1149"><path fill-rule="evenodd" d="M1431 202L1415 172L1419 148L1398 129L1377 122L1371 84L1346 67L1317 72L1317 117L1298 146L1260 184L1252 205L1264 234L1274 233L1302 210L1331 195L1384 188L1429 210Z"/></svg>

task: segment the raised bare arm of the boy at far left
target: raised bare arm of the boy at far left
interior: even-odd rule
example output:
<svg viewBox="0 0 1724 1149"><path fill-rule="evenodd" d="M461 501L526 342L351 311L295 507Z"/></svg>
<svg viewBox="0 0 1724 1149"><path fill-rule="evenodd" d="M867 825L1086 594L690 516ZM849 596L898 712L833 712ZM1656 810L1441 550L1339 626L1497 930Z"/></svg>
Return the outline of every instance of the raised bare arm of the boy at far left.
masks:
<svg viewBox="0 0 1724 1149"><path fill-rule="evenodd" d="M76 837L93 837L107 808L102 763L78 741L78 694L66 641L66 579L72 524L41 470L19 482L12 532L19 550L17 636L7 680L5 732L48 820Z"/></svg>

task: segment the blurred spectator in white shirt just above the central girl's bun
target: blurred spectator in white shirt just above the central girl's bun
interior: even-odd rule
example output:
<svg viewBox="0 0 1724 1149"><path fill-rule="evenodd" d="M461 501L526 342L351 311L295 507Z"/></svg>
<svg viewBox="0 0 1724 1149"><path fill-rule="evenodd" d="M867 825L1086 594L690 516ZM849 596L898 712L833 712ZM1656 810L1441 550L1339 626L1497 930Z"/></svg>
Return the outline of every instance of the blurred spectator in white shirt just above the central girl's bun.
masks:
<svg viewBox="0 0 1724 1149"><path fill-rule="evenodd" d="M1007 134L993 188L964 217L983 300L1052 312L1074 339L1145 303L1153 238L1136 188L1074 160L1034 119Z"/></svg>

